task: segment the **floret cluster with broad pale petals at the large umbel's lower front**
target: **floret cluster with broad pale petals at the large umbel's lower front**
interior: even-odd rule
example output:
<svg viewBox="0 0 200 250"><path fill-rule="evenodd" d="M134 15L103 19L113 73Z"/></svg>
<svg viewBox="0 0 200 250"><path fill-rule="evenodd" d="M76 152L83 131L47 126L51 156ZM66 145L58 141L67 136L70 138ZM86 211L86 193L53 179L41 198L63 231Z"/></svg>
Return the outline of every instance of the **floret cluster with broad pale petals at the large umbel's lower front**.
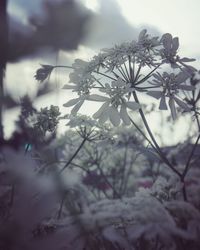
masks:
<svg viewBox="0 0 200 250"><path fill-rule="evenodd" d="M125 125L130 125L131 122L127 113L127 108L131 110L137 110L140 108L138 103L127 100L128 93L133 91L130 84L126 84L121 78L118 78L116 81L111 82L111 86L105 84L105 87L100 91L107 96L88 94L84 97L81 96L72 99L63 106L70 107L75 105L71 111L71 114L75 115L85 100L104 102L100 109L93 115L94 119L98 119L101 124L109 119L114 126L118 126L121 120Z"/></svg>

